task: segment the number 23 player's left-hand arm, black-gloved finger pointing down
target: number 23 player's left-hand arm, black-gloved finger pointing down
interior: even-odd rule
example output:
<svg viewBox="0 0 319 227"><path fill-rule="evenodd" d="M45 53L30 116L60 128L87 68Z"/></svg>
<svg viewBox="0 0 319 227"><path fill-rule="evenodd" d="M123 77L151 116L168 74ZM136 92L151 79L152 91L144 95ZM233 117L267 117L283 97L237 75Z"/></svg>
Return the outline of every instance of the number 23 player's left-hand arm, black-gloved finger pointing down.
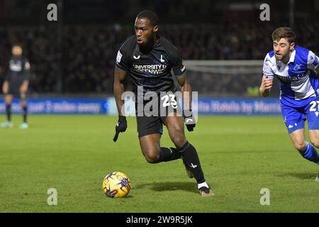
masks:
<svg viewBox="0 0 319 227"><path fill-rule="evenodd" d="M121 99L124 92L124 79L126 73L126 71L120 70L118 67L115 68L113 92L116 99L116 107L118 108L118 122L116 123L116 134L113 138L114 142L118 140L118 134L125 132L128 127L123 109L124 101Z"/></svg>

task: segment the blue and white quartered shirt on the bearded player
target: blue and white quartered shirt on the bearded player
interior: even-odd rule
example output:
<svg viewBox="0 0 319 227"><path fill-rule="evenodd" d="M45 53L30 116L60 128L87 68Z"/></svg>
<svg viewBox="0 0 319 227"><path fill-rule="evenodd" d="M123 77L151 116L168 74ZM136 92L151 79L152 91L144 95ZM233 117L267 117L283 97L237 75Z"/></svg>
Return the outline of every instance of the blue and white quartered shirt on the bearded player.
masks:
<svg viewBox="0 0 319 227"><path fill-rule="evenodd" d="M280 100L286 106L301 107L319 96L315 69L319 58L312 51L296 46L287 64L276 60L274 51L264 58L264 76L280 81Z"/></svg>

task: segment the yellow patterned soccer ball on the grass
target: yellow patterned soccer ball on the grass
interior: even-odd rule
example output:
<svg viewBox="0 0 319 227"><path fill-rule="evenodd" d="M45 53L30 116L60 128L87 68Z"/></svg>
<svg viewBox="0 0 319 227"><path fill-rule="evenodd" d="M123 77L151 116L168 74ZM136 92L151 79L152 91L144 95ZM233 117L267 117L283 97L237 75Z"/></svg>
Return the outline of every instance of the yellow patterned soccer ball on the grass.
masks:
<svg viewBox="0 0 319 227"><path fill-rule="evenodd" d="M103 192L111 198L121 198L130 192L130 179L123 172L111 172L103 179Z"/></svg>

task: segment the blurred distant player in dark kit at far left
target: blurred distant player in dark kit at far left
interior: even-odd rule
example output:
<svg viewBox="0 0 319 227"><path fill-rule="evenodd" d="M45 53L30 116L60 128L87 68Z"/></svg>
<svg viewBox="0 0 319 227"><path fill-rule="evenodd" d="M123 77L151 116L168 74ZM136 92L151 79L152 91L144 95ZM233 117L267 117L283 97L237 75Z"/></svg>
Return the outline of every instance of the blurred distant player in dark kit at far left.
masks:
<svg viewBox="0 0 319 227"><path fill-rule="evenodd" d="M22 56L22 46L13 45L12 57L9 60L9 68L6 71L6 78L2 86L2 92L4 92L6 102L6 118L7 121L1 123L2 128L11 128L13 123L11 122L11 103L13 96L18 96L23 114L23 123L20 128L28 128L27 123L27 102L26 92L28 92L29 79L30 79L30 63Z"/></svg>

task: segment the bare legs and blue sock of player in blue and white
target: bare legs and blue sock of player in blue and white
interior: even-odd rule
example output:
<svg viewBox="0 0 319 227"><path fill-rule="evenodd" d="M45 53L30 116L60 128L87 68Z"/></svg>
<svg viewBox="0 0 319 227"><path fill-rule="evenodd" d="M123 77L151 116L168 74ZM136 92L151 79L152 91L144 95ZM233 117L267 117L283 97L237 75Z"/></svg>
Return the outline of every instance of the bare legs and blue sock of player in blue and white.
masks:
<svg viewBox="0 0 319 227"><path fill-rule="evenodd" d="M309 138L310 142L313 143L311 145L306 141L305 138L305 131L304 129L298 129L296 131L293 131L289 134L291 141L293 142L293 145L298 150L298 152L306 158L306 160L309 160L310 162L315 162L319 165L319 154L317 150L313 147L313 145L318 145L318 130L310 130L309 131ZM316 146L317 147L317 146ZM315 181L319 181L319 175L315 178Z"/></svg>

